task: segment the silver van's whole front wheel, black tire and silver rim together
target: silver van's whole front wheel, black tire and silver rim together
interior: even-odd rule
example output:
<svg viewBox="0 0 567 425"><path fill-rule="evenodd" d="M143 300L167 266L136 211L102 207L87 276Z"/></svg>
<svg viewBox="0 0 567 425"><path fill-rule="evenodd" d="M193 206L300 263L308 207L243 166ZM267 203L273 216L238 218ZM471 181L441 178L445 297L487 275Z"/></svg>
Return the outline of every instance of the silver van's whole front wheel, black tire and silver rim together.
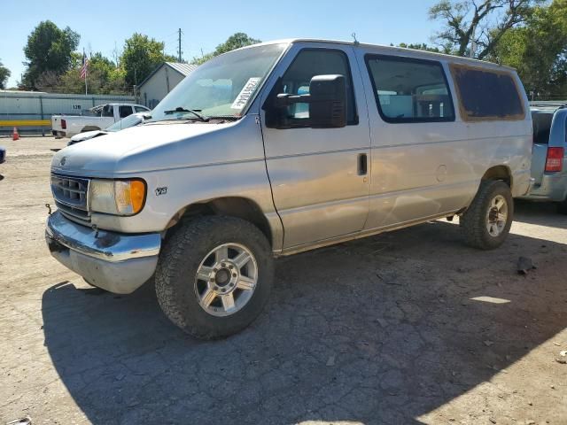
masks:
<svg viewBox="0 0 567 425"><path fill-rule="evenodd" d="M233 217L182 224L159 255L156 293L169 320L201 339L236 334L261 313L274 280L259 228Z"/></svg>

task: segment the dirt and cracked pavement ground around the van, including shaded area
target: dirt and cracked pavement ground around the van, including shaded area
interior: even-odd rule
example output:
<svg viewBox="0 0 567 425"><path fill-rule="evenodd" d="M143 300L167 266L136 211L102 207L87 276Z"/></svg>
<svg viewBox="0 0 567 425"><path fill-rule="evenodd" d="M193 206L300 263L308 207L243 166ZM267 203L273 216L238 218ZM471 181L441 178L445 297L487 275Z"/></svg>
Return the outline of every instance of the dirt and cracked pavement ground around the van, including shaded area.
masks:
<svg viewBox="0 0 567 425"><path fill-rule="evenodd" d="M497 251L442 220L279 259L260 318L199 342L151 285L115 296L50 258L65 141L0 144L0 423L567 424L567 217L553 205L518 203ZM521 255L537 270L518 275Z"/></svg>

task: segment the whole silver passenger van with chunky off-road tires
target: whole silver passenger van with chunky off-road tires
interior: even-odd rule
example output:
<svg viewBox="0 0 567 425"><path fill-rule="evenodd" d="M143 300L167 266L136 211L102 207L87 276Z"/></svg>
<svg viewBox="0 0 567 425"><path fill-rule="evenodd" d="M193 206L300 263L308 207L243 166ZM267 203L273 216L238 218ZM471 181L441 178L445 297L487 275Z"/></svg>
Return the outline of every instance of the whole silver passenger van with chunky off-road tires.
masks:
<svg viewBox="0 0 567 425"><path fill-rule="evenodd" d="M260 43L199 66L151 116L55 154L46 240L111 292L155 275L164 313L200 338L258 316L275 257L454 216L490 250L530 187L517 73L468 58Z"/></svg>

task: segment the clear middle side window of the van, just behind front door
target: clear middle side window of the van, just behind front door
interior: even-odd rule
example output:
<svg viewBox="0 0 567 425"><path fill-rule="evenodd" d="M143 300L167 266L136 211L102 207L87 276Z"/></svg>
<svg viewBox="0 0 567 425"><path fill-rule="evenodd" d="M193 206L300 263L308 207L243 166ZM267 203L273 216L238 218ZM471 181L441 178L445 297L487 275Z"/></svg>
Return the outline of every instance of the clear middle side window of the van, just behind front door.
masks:
<svg viewBox="0 0 567 425"><path fill-rule="evenodd" d="M378 111L387 122L454 120L447 79L439 62L367 55Z"/></svg>

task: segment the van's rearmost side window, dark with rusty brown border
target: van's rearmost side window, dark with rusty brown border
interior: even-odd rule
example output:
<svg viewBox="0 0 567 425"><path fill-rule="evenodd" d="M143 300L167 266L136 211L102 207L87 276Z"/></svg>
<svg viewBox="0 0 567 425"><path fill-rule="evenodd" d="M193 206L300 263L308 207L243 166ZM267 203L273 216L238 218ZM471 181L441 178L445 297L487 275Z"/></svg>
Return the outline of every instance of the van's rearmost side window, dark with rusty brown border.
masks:
<svg viewBox="0 0 567 425"><path fill-rule="evenodd" d="M524 105L510 73L451 65L462 120L523 120Z"/></svg>

